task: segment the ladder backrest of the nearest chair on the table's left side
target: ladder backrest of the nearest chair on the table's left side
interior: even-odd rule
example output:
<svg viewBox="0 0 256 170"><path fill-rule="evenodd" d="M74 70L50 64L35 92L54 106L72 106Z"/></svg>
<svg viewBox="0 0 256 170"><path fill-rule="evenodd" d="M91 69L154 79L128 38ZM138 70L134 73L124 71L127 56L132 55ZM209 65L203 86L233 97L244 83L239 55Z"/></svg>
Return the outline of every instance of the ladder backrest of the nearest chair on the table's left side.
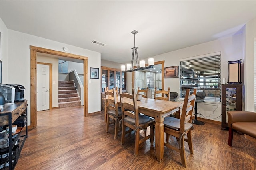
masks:
<svg viewBox="0 0 256 170"><path fill-rule="evenodd" d="M138 105L137 105L137 98L135 89L132 89L132 94L129 93L122 93L122 88L119 89L119 97L120 97L120 103L121 103L121 109L122 109L122 119L124 117L129 116L132 119L135 119L135 126L139 126L139 111L138 111ZM133 100L133 104L129 102L125 102L124 98L129 98ZM132 112L134 111L134 113Z"/></svg>

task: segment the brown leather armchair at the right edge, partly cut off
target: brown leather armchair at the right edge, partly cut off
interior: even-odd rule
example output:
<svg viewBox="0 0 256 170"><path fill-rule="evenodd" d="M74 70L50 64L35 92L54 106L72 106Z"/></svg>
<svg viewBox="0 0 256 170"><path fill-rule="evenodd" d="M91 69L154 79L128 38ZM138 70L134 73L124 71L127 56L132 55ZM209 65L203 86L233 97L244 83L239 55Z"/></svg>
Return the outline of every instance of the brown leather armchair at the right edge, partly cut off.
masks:
<svg viewBox="0 0 256 170"><path fill-rule="evenodd" d="M256 141L256 113L250 111L228 111L228 145L232 146L234 130L242 132L248 139Z"/></svg>

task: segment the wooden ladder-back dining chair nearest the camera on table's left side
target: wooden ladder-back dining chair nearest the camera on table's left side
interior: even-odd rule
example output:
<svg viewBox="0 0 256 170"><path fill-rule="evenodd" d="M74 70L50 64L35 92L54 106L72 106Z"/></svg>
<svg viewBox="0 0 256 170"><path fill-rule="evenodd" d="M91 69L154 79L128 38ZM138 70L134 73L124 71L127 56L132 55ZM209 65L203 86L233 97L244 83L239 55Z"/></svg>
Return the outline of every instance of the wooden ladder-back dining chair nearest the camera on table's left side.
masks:
<svg viewBox="0 0 256 170"><path fill-rule="evenodd" d="M120 102L122 108L122 136L121 136L121 145L124 144L126 127L135 131L135 147L134 155L137 156L139 152L139 144L150 139L150 144L153 146L154 143L154 122L155 119L142 115L138 111L137 98L135 89L132 89L132 94L122 93L122 89L119 89ZM131 102L127 102L127 99L131 99ZM131 101L130 100L130 101ZM147 129L150 126L150 135L140 136L140 130ZM141 137L141 138L140 138Z"/></svg>

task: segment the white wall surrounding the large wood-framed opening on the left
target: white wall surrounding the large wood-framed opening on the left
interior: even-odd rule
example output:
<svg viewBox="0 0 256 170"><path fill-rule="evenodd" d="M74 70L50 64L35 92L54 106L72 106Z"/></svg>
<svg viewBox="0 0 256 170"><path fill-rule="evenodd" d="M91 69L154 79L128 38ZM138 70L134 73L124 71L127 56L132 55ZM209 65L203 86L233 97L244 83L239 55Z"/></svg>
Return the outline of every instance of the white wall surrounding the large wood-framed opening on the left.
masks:
<svg viewBox="0 0 256 170"><path fill-rule="evenodd" d="M69 53L88 57L89 67L100 68L100 53L72 45L51 41L41 37L6 29L1 20L1 57L3 60L4 84L22 84L26 90L24 98L28 99L28 125L30 125L30 45L63 51L68 47ZM8 36L7 36L8 35ZM2 43L4 47L2 48ZM3 51L3 52L2 52ZM100 111L100 79L91 79L88 84L88 113Z"/></svg>

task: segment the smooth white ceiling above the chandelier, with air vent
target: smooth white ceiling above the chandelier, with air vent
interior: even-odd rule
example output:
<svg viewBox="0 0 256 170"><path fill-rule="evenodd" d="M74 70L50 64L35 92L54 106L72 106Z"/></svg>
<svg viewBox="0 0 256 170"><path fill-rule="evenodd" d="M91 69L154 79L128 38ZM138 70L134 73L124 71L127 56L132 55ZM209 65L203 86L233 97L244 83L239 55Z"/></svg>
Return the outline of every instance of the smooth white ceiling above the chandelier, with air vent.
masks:
<svg viewBox="0 0 256 170"><path fill-rule="evenodd" d="M256 1L1 0L8 29L128 63L136 29L140 59L233 35L256 17ZM91 43L106 44L104 47Z"/></svg>

